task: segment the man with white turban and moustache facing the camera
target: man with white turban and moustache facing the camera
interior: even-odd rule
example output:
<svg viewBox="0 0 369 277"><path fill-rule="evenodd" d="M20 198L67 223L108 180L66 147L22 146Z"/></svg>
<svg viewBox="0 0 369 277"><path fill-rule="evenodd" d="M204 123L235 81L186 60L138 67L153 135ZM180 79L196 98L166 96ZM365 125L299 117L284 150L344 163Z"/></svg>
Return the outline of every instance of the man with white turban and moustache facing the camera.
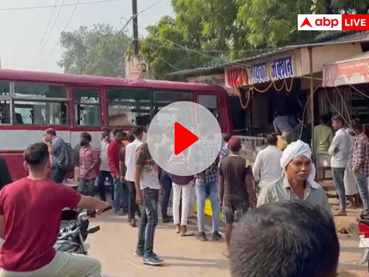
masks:
<svg viewBox="0 0 369 277"><path fill-rule="evenodd" d="M300 199L331 213L324 190L314 181L315 166L311 155L310 146L302 141L291 143L286 147L280 160L284 176L261 190L257 206Z"/></svg>

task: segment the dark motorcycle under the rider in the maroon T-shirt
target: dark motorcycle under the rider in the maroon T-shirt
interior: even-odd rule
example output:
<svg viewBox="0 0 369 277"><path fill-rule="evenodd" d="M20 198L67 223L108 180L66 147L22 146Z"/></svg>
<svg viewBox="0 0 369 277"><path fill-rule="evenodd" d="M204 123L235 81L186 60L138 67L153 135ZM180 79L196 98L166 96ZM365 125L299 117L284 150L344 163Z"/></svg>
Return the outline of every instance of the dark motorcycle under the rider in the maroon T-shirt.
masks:
<svg viewBox="0 0 369 277"><path fill-rule="evenodd" d="M109 206L104 211L111 208ZM95 211L84 210L80 213L75 210L62 211L59 232L54 245L56 251L87 255L90 249L90 245L86 243L87 236L100 230L100 226L89 228L89 219L95 216Z"/></svg>

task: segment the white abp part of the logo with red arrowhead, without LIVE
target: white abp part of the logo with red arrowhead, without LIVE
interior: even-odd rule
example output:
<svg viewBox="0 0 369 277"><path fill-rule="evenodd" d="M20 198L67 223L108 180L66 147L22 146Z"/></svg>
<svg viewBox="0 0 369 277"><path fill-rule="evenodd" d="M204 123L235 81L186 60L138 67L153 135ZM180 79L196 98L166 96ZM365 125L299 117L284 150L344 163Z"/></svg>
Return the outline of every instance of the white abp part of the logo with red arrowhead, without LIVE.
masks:
<svg viewBox="0 0 369 277"><path fill-rule="evenodd" d="M298 14L299 31L340 31L342 14Z"/></svg>

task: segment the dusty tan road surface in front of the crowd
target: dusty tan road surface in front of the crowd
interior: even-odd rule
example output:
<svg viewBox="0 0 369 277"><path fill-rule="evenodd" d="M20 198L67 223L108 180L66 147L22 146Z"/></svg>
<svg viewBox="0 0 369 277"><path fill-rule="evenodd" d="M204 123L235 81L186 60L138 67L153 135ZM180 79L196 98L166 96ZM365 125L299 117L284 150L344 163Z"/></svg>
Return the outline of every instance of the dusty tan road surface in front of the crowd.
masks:
<svg viewBox="0 0 369 277"><path fill-rule="evenodd" d="M154 251L165 259L165 266L143 265L133 256L137 242L137 228L129 226L126 216L115 216L111 211L92 220L101 230L89 236L90 255L101 261L105 277L229 277L228 260L221 252L220 242L199 242L195 238L182 238L172 225L160 224L155 234ZM195 230L195 226L191 226ZM365 266L357 265L360 250L357 237L340 235L340 274L342 277L368 276Z"/></svg>

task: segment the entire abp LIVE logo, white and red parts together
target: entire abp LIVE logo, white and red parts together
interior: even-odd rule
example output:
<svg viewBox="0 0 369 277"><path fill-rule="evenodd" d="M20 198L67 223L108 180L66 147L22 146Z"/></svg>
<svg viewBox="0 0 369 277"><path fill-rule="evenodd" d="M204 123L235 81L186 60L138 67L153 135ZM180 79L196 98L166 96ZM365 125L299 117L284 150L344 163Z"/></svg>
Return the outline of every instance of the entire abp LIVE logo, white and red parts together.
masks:
<svg viewBox="0 0 369 277"><path fill-rule="evenodd" d="M299 14L299 31L366 31L369 30L369 14Z"/></svg>

